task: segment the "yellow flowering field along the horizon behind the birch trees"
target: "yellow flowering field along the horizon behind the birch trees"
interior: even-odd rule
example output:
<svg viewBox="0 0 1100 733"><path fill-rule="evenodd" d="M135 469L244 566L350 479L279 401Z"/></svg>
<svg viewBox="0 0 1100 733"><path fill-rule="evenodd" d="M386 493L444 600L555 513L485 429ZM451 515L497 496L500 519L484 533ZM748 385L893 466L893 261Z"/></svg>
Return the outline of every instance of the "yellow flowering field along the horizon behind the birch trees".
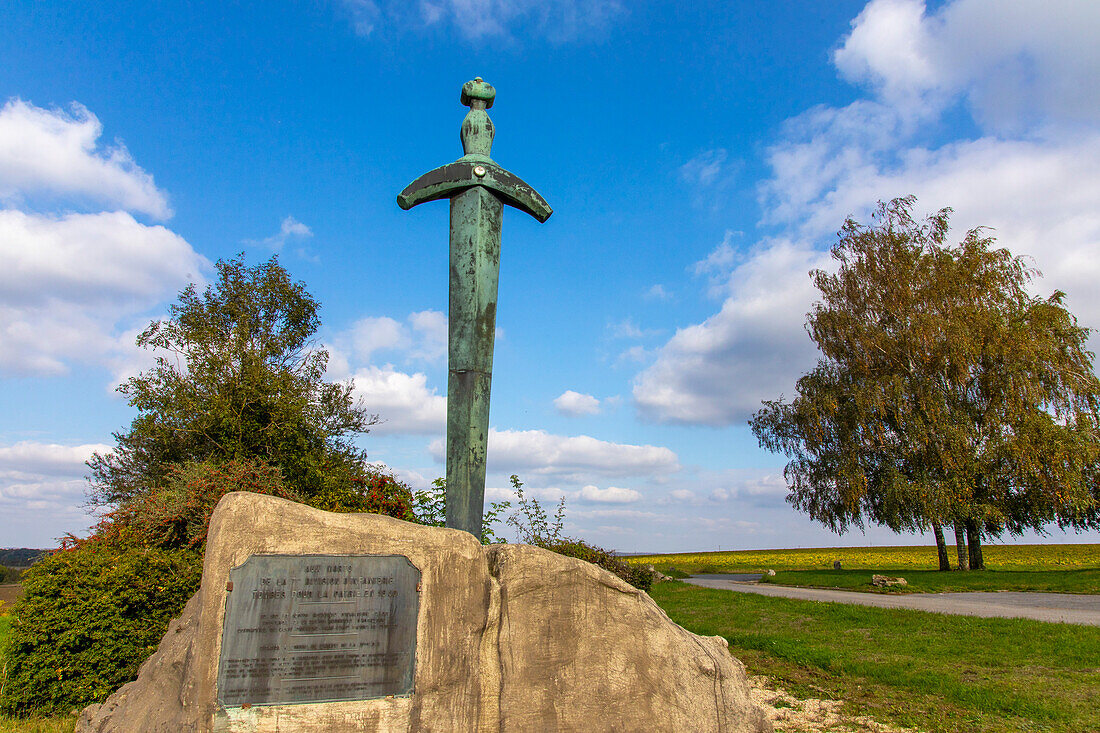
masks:
<svg viewBox="0 0 1100 733"><path fill-rule="evenodd" d="M955 545L948 543L954 565ZM990 570L1082 570L1100 569L1100 545L985 545L982 554ZM627 562L652 565L658 570L676 568L686 572L760 572L772 570L831 569L840 560L845 569L935 570L936 548L917 547L821 547L807 549L680 553L623 558Z"/></svg>

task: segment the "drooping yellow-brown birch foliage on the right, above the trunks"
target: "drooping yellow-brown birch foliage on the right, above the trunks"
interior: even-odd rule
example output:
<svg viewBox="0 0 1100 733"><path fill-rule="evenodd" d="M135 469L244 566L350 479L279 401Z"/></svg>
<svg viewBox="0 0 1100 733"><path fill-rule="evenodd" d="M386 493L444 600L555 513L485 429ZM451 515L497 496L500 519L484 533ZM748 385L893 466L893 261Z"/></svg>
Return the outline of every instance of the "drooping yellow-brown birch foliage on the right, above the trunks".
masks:
<svg viewBox="0 0 1100 733"><path fill-rule="evenodd" d="M913 197L848 219L806 329L822 358L791 402L750 420L783 452L788 501L843 533L969 522L997 534L1096 526L1100 382L1065 294L981 229L945 244L950 209Z"/></svg>

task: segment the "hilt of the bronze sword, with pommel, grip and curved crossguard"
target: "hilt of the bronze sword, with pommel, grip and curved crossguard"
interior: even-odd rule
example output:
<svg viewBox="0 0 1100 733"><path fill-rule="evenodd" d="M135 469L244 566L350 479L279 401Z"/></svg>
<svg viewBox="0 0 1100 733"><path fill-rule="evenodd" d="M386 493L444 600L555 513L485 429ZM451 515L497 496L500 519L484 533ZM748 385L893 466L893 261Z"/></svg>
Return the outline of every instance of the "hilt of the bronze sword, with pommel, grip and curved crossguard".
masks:
<svg viewBox="0 0 1100 733"><path fill-rule="evenodd" d="M485 110L493 106L496 89L481 77L462 85L460 100L470 108L462 120L462 151L453 163L424 174L400 193L397 206L405 210L425 201L451 198L473 186L484 186L501 200L539 221L546 221L553 209L538 192L519 176L505 171L490 157L493 147L493 121Z"/></svg>

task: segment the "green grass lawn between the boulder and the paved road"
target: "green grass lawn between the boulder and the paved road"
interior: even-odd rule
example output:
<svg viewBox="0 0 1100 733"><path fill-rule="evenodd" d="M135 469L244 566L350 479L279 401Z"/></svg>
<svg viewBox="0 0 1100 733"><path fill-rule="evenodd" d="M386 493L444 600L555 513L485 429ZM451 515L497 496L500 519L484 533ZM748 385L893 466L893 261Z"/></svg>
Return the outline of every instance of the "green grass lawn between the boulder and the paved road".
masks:
<svg viewBox="0 0 1100 733"><path fill-rule="evenodd" d="M659 583L673 621L722 635L799 697L926 731L1100 731L1100 628L945 616Z"/></svg>

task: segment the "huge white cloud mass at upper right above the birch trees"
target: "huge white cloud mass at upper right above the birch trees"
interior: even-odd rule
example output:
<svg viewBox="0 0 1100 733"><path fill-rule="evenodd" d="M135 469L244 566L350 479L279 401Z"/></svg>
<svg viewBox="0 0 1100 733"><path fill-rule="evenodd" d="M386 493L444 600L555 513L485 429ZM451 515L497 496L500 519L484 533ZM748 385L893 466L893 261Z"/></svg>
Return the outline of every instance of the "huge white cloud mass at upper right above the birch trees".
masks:
<svg viewBox="0 0 1100 733"><path fill-rule="evenodd" d="M990 23L990 18L997 18ZM782 228L747 253L727 238L695 272L722 309L679 329L634 381L640 414L692 425L743 423L762 398L790 396L815 349L806 273L847 216L914 194L923 212L955 209L957 238L986 226L1031 256L1038 293L1068 293L1082 325L1100 326L1100 6L872 0L834 61L869 96L790 120L768 150L762 223ZM934 141L926 130L961 100L979 134Z"/></svg>

